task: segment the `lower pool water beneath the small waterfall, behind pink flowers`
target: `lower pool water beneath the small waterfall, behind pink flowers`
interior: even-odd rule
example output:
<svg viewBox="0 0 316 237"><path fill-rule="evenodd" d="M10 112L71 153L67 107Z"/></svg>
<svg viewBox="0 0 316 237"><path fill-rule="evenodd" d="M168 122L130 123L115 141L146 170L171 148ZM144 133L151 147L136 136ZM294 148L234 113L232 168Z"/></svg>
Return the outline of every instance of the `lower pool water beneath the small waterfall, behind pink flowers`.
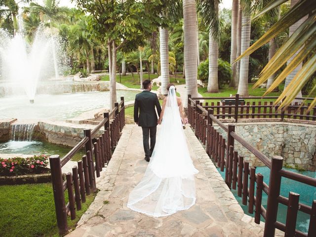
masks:
<svg viewBox="0 0 316 237"><path fill-rule="evenodd" d="M0 154L24 154L24 155L59 155L65 156L72 148L67 146L55 145L40 141L8 141L0 143ZM85 155L84 149L81 149L72 160L79 160Z"/></svg>

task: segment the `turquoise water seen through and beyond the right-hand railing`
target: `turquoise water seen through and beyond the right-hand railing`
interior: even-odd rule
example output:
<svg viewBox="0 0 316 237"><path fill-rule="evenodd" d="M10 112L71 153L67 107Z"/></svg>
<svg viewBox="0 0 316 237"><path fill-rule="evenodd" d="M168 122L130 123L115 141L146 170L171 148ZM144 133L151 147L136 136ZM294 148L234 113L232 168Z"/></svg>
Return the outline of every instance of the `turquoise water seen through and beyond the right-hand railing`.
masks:
<svg viewBox="0 0 316 237"><path fill-rule="evenodd" d="M309 177L316 177L316 172L312 171L298 171L296 169L290 169L285 168L283 169L290 170L296 173L304 174ZM217 169L219 172L220 170ZM263 166L263 167L257 167L256 173L261 173L263 175L264 182L269 185L269 177L270 177L270 169L269 167ZM220 172L222 177L225 179L225 172ZM249 183L249 182L248 182ZM256 187L256 186L255 186ZM256 188L255 188L256 192ZM316 187L312 187L310 185L302 184L300 182L290 180L287 178L282 177L281 180L281 190L280 195L283 197L288 197L289 192L294 192L297 194L300 194L300 203L306 204L311 206L314 199L316 199ZM244 213L250 216L254 216L254 214L248 213L248 206L242 204L241 197L237 196L237 190L232 189L232 193L236 197L238 203L242 207ZM262 205L267 208L267 198L268 196L263 192L262 195ZM277 221L284 223L286 222L286 213L287 213L287 206L280 204L278 205L278 211L277 211ZM264 221L264 219L261 217L261 221ZM297 215L297 222L296 222L296 229L301 232L308 232L309 228L309 222L310 222L310 215L305 214L301 211L298 211Z"/></svg>

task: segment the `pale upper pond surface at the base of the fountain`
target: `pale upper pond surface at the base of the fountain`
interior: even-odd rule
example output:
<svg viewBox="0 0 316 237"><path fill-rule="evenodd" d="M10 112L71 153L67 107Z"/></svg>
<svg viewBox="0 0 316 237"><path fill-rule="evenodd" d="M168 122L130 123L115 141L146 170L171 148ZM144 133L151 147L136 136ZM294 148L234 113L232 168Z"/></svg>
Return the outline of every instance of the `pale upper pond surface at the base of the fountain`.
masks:
<svg viewBox="0 0 316 237"><path fill-rule="evenodd" d="M131 90L118 90L118 101L133 101L139 93ZM0 97L0 118L36 119L50 118L65 120L100 108L110 107L110 92L85 92L58 95L36 95L34 104L26 96Z"/></svg>

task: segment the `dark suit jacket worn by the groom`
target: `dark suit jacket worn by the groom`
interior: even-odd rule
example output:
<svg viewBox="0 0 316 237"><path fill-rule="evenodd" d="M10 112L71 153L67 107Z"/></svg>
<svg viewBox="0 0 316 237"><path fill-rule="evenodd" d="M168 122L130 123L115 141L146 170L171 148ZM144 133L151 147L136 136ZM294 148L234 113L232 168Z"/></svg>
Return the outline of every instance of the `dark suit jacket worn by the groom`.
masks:
<svg viewBox="0 0 316 237"><path fill-rule="evenodd" d="M136 95L134 103L134 121L138 122L138 126L157 126L158 118L155 106L157 108L158 115L160 116L161 107L155 93L150 92L149 90L144 90Z"/></svg>

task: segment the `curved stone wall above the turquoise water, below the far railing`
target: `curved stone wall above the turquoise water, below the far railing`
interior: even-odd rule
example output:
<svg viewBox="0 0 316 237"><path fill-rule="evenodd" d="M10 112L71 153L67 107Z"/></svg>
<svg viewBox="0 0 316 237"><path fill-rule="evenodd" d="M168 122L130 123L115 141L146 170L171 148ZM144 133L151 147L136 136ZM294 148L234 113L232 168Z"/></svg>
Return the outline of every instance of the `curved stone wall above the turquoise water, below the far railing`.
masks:
<svg viewBox="0 0 316 237"><path fill-rule="evenodd" d="M235 125L236 133L268 158L277 155L283 157L289 166L316 170L315 125L287 122L240 122ZM227 133L222 129L219 131L227 139ZM238 142L235 142L235 150L251 165L264 165Z"/></svg>

